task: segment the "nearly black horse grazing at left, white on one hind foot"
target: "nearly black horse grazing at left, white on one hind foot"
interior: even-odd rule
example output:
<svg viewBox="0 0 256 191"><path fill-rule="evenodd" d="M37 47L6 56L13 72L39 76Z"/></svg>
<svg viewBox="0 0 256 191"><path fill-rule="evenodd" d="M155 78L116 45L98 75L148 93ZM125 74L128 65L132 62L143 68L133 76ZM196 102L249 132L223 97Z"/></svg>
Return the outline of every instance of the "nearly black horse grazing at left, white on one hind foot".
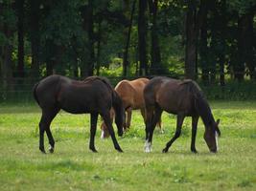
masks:
<svg viewBox="0 0 256 191"><path fill-rule="evenodd" d="M42 110L42 116L39 122L39 149L42 153L45 153L44 132L46 132L49 139L49 151L51 153L54 152L55 140L50 130L50 124L60 109L71 114L90 114L89 148L93 152L97 152L94 145L94 138L97 119L101 115L104 118L115 149L123 152L115 138L110 122L109 110L113 107L116 112L115 122L119 136L123 135L125 110L121 98L113 90L106 78L91 76L83 81L78 81L54 74L35 84L34 96Z"/></svg>

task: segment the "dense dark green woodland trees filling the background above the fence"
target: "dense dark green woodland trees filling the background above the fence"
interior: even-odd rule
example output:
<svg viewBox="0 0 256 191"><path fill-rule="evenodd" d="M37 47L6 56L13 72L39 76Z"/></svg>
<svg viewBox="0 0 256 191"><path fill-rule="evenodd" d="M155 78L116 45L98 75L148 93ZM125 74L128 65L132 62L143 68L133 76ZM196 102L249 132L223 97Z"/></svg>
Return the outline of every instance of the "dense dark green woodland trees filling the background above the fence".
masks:
<svg viewBox="0 0 256 191"><path fill-rule="evenodd" d="M255 13L255 0L0 0L2 82L118 68L255 79Z"/></svg>

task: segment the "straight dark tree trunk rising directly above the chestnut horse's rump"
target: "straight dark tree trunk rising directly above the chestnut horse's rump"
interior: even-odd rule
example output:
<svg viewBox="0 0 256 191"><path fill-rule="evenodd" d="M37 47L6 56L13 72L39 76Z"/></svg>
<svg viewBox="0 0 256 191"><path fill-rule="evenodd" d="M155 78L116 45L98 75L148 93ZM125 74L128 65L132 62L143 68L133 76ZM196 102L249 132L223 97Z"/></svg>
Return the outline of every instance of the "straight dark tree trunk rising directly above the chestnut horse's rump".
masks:
<svg viewBox="0 0 256 191"><path fill-rule="evenodd" d="M138 46L139 46L139 61L140 75L148 74L147 60L147 22L146 22L147 0L139 0L139 15L138 15Z"/></svg>

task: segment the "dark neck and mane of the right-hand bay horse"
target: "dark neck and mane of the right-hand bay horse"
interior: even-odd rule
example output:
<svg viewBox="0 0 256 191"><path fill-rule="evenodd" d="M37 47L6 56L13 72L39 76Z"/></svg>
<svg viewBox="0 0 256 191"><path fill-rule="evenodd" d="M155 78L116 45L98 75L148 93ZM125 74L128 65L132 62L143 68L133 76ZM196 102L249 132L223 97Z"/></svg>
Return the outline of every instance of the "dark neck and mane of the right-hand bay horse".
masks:
<svg viewBox="0 0 256 191"><path fill-rule="evenodd" d="M184 80L183 84L187 84L190 93L193 95L195 100L195 109L201 117L204 125L206 127L211 126L215 120L211 108L198 86L198 83L193 80Z"/></svg>

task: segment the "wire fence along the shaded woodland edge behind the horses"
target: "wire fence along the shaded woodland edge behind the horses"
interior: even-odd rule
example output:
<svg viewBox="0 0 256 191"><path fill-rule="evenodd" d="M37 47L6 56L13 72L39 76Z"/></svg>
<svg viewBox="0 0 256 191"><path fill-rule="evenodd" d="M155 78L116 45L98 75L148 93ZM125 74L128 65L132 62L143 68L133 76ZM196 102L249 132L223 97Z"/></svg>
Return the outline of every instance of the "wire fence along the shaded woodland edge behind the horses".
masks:
<svg viewBox="0 0 256 191"><path fill-rule="evenodd" d="M149 78L153 76L147 76ZM172 77L172 76L170 76ZM34 101L33 87L43 77L0 77L0 104L1 103L31 103ZM72 77L74 79L81 79ZM122 79L135 79L137 76L108 76L107 77L113 87ZM182 76L181 76L182 78ZM228 80L224 86L218 83L204 84L198 80L199 86L209 99L225 99L225 100L256 100L256 82L255 80L244 80L237 82Z"/></svg>

